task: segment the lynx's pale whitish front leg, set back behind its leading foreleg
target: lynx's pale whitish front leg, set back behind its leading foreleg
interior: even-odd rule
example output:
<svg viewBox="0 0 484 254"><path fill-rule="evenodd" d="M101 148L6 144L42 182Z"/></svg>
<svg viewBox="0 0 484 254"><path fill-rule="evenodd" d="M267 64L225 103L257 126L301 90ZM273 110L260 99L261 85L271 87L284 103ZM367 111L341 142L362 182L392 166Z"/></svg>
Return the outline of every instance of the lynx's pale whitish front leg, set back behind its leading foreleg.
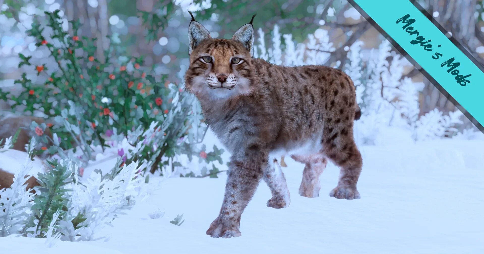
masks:
<svg viewBox="0 0 484 254"><path fill-rule="evenodd" d="M272 193L272 198L267 201L267 206L275 209L288 207L291 202L289 189L287 189L286 178L276 159L273 163L269 163L264 171L264 181Z"/></svg>

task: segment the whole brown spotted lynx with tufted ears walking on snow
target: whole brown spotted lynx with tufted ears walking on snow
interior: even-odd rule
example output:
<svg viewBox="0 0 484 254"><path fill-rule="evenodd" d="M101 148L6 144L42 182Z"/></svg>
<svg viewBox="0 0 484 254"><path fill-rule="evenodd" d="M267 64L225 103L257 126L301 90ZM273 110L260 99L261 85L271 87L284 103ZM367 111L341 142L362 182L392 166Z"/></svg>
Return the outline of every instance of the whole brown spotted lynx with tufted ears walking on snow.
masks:
<svg viewBox="0 0 484 254"><path fill-rule="evenodd" d="M185 90L197 96L207 124L231 153L222 208L206 232L215 238L241 236L242 211L260 179L272 192L267 206L289 205L275 159L284 155L305 164L299 194L319 195L318 178L330 160L341 168L330 196L360 198L362 157L353 121L361 111L353 82L326 66L284 67L253 58L254 16L230 40L212 38L193 15L188 28Z"/></svg>

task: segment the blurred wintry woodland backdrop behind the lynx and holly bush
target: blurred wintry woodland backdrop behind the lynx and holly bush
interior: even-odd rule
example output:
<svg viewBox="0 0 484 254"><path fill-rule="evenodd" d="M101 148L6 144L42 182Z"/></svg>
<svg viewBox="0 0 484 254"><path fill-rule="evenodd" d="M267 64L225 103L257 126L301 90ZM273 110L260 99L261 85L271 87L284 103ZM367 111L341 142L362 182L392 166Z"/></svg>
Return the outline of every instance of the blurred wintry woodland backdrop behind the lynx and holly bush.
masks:
<svg viewBox="0 0 484 254"><path fill-rule="evenodd" d="M421 0L419 3L484 63L482 0ZM363 110L355 133L360 144L482 136L346 0L0 0L0 6L0 88L3 95L9 93L0 100L3 115L53 118L59 112L52 109L47 112L42 109L43 106L35 106L41 102L29 101L26 99L28 95L22 97L21 94L29 91L30 95L37 94L35 89L44 92L49 82L54 85L66 82L67 86L68 82L63 77L56 79L61 67L80 68L79 73L82 73L83 68L92 67L89 63L92 60L103 72L111 72L120 66L122 72L123 66L133 69L132 64L137 64L136 69L143 70L143 74L139 74L142 78L146 74L152 77L146 85L146 94L144 89L135 91L141 94L138 101L144 95L156 93L155 87L180 90L189 63L187 27L190 17L187 11L192 11L197 21L211 31L212 37L218 38L231 38L235 30L257 13L254 20L256 57L283 65L329 65L344 70L352 77L357 86L358 103ZM76 56L84 58L85 62L81 61L77 67L69 63L61 66L61 61L52 57L49 48L44 45L50 46L47 43L55 39L55 36L48 38L55 34L56 28L48 25L51 21L45 12L56 12L60 20L57 29L65 32L65 38L74 40L72 45L78 46L75 44L78 40L83 41L82 46L90 45L90 49L76 47ZM39 30L43 26L47 28ZM66 50L70 51L69 48ZM26 57L31 65L20 64ZM127 63L132 59L136 59L136 63L135 60L131 65ZM39 66L42 68L39 69ZM23 74L30 80L29 85L23 83ZM92 78L94 74L90 74ZM80 76L82 82L78 80L78 85L83 90L82 86L86 86L83 82L91 81L84 79L82 74ZM118 75L106 75L104 78L114 82ZM127 84L130 89L133 86L128 79L118 82L121 82L118 85ZM168 86L168 83L174 86ZM84 94L94 94L94 87L85 90ZM45 92L40 99L49 100L50 96L56 97L54 95L55 90L53 93ZM82 95L80 93L80 97ZM150 116L155 97L147 110ZM166 107L160 111L171 110L172 105ZM116 111L109 105L105 108ZM111 117L116 122L116 112ZM97 123L98 120L92 122ZM136 123L136 119L133 122ZM12 130L15 133L15 128L7 128L5 124L0 129L3 133L12 133ZM177 134L173 138L181 136Z"/></svg>

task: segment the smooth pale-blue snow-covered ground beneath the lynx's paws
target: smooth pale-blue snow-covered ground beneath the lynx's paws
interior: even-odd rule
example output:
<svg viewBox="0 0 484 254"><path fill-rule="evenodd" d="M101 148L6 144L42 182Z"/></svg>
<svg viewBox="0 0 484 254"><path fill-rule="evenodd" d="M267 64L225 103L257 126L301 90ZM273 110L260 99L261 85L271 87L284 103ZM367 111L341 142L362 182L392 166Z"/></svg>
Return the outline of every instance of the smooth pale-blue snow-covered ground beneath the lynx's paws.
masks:
<svg viewBox="0 0 484 254"><path fill-rule="evenodd" d="M214 239L205 231L220 209L225 176L154 178L151 196L100 232L107 241L54 249L69 246L71 254L107 254L106 249L123 254L484 253L484 141L438 140L361 150L359 200L328 196L339 174L332 164L321 175L319 197L299 196L303 165L286 158L290 206L266 207L271 193L261 182L242 214L242 237ZM149 219L157 209L165 215ZM181 226L169 223L177 214L186 219ZM0 238L0 252L35 249L31 242L23 244Z"/></svg>

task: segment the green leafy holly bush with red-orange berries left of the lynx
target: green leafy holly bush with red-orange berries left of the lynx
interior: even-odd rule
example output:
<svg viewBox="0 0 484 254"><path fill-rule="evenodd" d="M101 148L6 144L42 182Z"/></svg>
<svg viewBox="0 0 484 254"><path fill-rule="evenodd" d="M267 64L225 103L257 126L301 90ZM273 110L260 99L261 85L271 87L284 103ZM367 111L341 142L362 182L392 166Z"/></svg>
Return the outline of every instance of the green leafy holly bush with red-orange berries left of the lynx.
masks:
<svg viewBox="0 0 484 254"><path fill-rule="evenodd" d="M88 147L83 152L89 153L92 145L107 147L106 139L113 130L127 135L139 126L147 130L152 122L158 122L163 127L159 130L164 130L165 137L159 139L162 143L147 146L137 155L137 159L146 160L156 156L151 172L166 166L169 159L180 153L196 155L207 163L221 161L222 149L214 148L208 152L211 156L206 156L204 149L193 146L203 138L198 133L204 133L207 127L200 121L200 112L194 110L198 107L192 95L170 83L165 75L151 75L143 67L143 57L123 56L124 50L115 40L111 40L104 52L105 58L98 59L96 38L77 36L79 21L69 21L70 34L62 29L59 11L45 12L45 17L45 25L37 19L27 33L50 56L44 63L32 64L30 56L19 54L19 68L31 67L37 79L33 82L24 73L15 81L24 90L18 96L2 92L0 98L10 101L15 111L23 109L28 114L43 113L45 118L57 119L58 124L32 126L32 130L37 128L40 133L51 128L59 138L56 141L59 148ZM52 65L47 62L52 60L56 63L55 69L49 70L47 65ZM39 84L39 80L45 81ZM66 113L64 109L75 112ZM69 124L59 122L62 119ZM193 137L194 133L198 138ZM58 151L57 146L56 149L43 147L43 150L51 154ZM91 154L86 157L86 160L92 159Z"/></svg>

